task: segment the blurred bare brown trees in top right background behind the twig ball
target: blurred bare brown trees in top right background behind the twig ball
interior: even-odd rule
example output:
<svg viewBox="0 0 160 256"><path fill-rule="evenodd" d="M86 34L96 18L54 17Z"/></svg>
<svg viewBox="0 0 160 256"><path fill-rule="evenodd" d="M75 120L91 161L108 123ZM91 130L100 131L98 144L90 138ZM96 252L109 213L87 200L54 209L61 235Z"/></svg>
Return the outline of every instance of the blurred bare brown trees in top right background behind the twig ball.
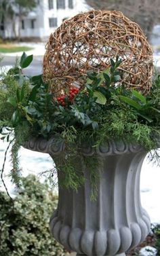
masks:
<svg viewBox="0 0 160 256"><path fill-rule="evenodd" d="M153 26L160 22L159 0L85 0L87 5L99 10L117 10L137 22L146 36L151 36Z"/></svg>

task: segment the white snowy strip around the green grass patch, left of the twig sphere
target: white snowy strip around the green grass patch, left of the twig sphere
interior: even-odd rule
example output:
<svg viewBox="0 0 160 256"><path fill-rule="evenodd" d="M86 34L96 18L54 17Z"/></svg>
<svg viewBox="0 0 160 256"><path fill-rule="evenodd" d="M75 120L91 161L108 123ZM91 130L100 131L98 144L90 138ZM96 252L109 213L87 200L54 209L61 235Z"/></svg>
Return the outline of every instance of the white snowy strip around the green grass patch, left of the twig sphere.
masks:
<svg viewBox="0 0 160 256"><path fill-rule="evenodd" d="M33 48L33 50L26 51L27 55L33 54L33 56L43 56L45 54L45 44L46 43L15 43L18 46L28 46ZM23 52L13 52L13 53L3 53L0 52L1 56L22 56Z"/></svg>

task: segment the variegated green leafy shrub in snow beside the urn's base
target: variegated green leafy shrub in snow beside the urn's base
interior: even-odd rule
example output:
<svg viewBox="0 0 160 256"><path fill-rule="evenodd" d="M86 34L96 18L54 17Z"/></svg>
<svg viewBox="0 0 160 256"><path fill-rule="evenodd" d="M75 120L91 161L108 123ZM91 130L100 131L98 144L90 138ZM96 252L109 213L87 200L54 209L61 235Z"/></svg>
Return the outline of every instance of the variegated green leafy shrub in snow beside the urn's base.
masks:
<svg viewBox="0 0 160 256"><path fill-rule="evenodd" d="M56 209L57 197L46 184L29 175L12 202L0 193L0 255L62 256L64 249L49 233L49 217Z"/></svg>

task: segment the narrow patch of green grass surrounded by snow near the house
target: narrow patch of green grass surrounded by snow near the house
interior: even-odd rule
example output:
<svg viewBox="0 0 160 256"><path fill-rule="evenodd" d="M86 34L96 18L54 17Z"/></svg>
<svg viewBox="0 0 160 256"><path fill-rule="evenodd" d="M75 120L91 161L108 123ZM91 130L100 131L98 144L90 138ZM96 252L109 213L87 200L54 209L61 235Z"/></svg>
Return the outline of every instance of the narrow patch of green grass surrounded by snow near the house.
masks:
<svg viewBox="0 0 160 256"><path fill-rule="evenodd" d="M3 53L12 53L12 52L26 52L33 50L33 48L28 46L17 46L12 44L0 44L0 52Z"/></svg>

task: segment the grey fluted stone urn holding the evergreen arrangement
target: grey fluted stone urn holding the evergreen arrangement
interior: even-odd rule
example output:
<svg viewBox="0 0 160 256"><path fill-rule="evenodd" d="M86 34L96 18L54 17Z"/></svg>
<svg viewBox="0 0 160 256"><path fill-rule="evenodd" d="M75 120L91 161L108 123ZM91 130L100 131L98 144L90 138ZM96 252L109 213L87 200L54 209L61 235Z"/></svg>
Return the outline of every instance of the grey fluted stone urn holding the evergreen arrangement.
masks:
<svg viewBox="0 0 160 256"><path fill-rule="evenodd" d="M31 139L26 148L49 153L54 159L65 150L65 143L55 143L54 138ZM140 203L140 170L146 151L139 145L110 141L98 149L85 147L81 153L100 157L97 200L90 200L89 171L84 167L85 184L78 191L59 187L58 208L50 219L51 232L77 255L125 255L150 231L150 219Z"/></svg>

